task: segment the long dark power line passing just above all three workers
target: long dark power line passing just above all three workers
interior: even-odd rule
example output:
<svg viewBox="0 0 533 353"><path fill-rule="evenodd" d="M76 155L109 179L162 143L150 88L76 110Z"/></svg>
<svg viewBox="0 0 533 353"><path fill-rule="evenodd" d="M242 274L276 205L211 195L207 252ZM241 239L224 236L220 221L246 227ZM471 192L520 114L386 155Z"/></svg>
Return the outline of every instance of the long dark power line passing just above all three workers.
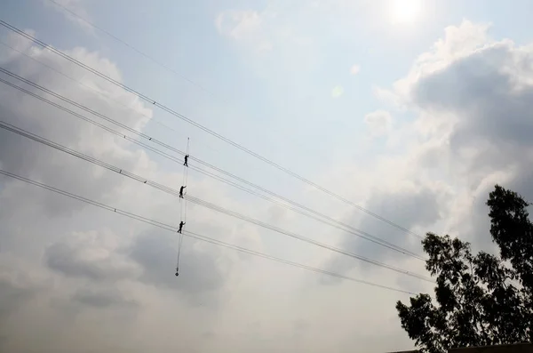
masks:
<svg viewBox="0 0 533 353"><path fill-rule="evenodd" d="M72 63L74 63L74 64L76 64L76 65L78 65L78 66L80 66L82 68L85 68L87 71L93 73L94 75L99 76L99 77L105 79L106 81L123 88L123 90L125 90L127 92L131 92L131 93L137 94L139 96L139 98L141 98L142 100L146 100L147 102L149 102L150 104L156 106L157 108L161 108L163 111L166 111L167 113L169 113L169 114L171 114L173 116L176 116L179 119L182 119L183 121L187 122L188 124L192 124L196 128L198 128L200 130L203 130L203 132L210 133L212 136L217 137L219 140L223 140L223 141L227 142L228 144L234 146L235 148L239 148L239 149L243 150L243 152L246 152L247 154L249 154L251 156L254 156L257 159L259 159L259 160L261 160L261 161L263 161L263 162L265 162L267 164L270 164L270 165L274 166L275 168L279 169L282 172L285 172L285 173L291 175L292 177L298 179L299 181L305 182L306 184L314 187L314 189L319 189L322 192L324 192L325 194L330 195L330 197L335 197L338 200L346 203L347 205L352 205L354 208L357 208L358 210L369 214L370 216L378 219L379 221L384 221L387 224L393 226L394 228L401 229L402 231L406 232L407 234L410 234L410 235L416 236L416 237L420 237L418 234L412 232L410 229L406 229L406 228L402 227L401 225L399 225L397 223L394 223L394 221L389 221L385 217L382 217L382 216L378 215L377 213L373 213L370 210L367 210L366 208L364 208L364 207L362 207L360 205L356 205L354 202L346 199L346 197L341 197L338 194L330 191L329 189L325 189L322 186L314 183L313 181L309 181L308 179L304 178L303 176L300 176L298 173L291 172L289 169L283 167L280 164L277 164L277 163L271 161L267 157L261 156L258 153L253 152L251 149L243 147L243 145L224 137L223 135L219 134L218 132L214 132L211 129L203 126L202 124L196 123L194 120L190 119L189 117L184 116L182 114L179 114L175 110L172 110L171 108L168 108L167 106L165 106L165 105L163 105L161 103L158 103L156 100L148 97L147 95L145 95L143 93L140 93L140 92L132 89L131 87L116 81L115 79L111 78L110 76L102 74L98 70L96 70L94 68L91 68L90 66L84 64L83 62L81 62L79 60L74 59L73 57L69 56L68 54L53 48L51 45L44 43L43 41L37 39L36 37L28 35L24 31L22 31L19 28L16 28L16 27L10 25L9 23L5 22L4 20L0 20L0 25L4 26L5 28L8 28L8 29L12 30L15 33L18 33L20 36L26 37L28 40L30 40L30 41L38 44L38 45L43 46L44 48L50 50L51 52L54 52L57 55L60 55L60 57L66 59L68 61L71 61Z"/></svg>

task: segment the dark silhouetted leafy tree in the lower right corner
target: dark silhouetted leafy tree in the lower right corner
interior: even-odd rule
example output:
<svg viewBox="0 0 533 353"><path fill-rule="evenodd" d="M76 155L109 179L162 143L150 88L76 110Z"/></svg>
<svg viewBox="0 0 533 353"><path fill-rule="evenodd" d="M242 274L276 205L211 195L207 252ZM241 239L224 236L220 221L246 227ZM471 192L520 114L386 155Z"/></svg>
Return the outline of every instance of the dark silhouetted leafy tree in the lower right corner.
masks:
<svg viewBox="0 0 533 353"><path fill-rule="evenodd" d="M533 224L530 205L498 185L489 194L490 235L499 256L471 253L470 244L428 233L429 294L397 301L402 328L423 352L530 342L533 339Z"/></svg>

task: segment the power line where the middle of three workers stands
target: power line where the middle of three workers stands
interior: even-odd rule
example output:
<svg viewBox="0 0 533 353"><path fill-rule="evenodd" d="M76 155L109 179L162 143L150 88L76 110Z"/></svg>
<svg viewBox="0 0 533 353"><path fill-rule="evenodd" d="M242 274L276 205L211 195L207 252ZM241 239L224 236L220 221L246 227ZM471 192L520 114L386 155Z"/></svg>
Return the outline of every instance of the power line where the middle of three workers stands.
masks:
<svg viewBox="0 0 533 353"><path fill-rule="evenodd" d="M46 140L43 137L36 135L35 133L28 132L26 130L20 129L19 127L16 127L16 126L14 126L12 124L7 124L5 122L0 121L0 128L2 128L4 130L7 130L9 132L16 133L16 134L18 134L20 136L23 136L23 137L26 137L26 138L28 138L30 140L34 140L36 142L42 143L42 144L44 144L44 145L46 145L48 147L58 149L58 150L60 150L62 152L65 152L65 153L71 155L71 156L76 156L76 157L78 157L80 159L83 159L84 161L90 162L92 164L97 164L97 165L99 165L99 166L101 166L103 168L106 168L109 171L120 173L121 175L126 176L128 178L131 178L131 179L133 179L135 181L142 182L142 183L147 184L148 186L153 187L155 189L160 189L163 192L171 194L174 197L179 197L179 195L180 195L180 192L178 190L176 190L176 189L171 189L170 187L167 187L167 186L165 186L163 184L157 183L155 181L150 181L147 178L144 178L144 177L139 176L139 175L137 175L135 173L123 170L122 168L119 168L119 167L117 167L115 165L107 164L105 162L102 162L102 161L94 158L94 157L87 156L87 155L85 155L85 154L83 154L81 152L75 151L74 149L62 146L59 143L53 142L51 140ZM361 255L357 255L355 253L346 252L345 250L339 249L337 247L334 247L334 246L331 246L331 245L326 245L326 244L314 241L313 239L310 239L310 238L307 238L307 237L299 236L296 233L292 233L290 231L274 227L274 226L272 226L270 224L267 224L267 223L259 221L259 220L255 220L255 219L253 219L251 217L248 217L248 216L245 216L245 215L243 215L241 213L236 213L234 211L227 210L224 207L221 207L219 205L211 204L211 203L209 203L207 201L204 201L204 200L202 200L200 198L186 196L186 199L191 201L192 203L194 203L196 205L201 205L201 206L209 208L209 209L211 209L213 211L217 211L219 213L227 214L229 216L235 217L235 218L240 219L242 221L248 221L248 222L250 222L252 224L256 224L259 227L263 227L265 229L274 230L277 233L280 233L280 234L288 236L288 237L293 237L295 239L298 239L300 241L306 242L308 244L319 246L319 247L322 247L323 249L327 249L327 250L330 250L330 251L335 252L335 253L341 253L341 254L344 254L346 256L352 257L354 259L357 259L357 260L360 260L360 261L365 261L367 263L370 263L370 264L373 264L373 265L376 265L376 266L379 266L379 267L382 267L382 268L385 268L385 269L391 269L391 270L394 270L395 272L399 272L399 273L402 273L402 274L410 276L410 277L416 277L418 279L422 279L422 280L425 280L425 281L431 282L431 283L434 282L431 278L423 277L421 275L412 273L412 272L407 271L405 269L400 269L400 268L397 268L397 267L394 267L394 266L391 266L391 265L387 265L386 263L382 263L382 262L379 262L379 261L374 261L374 260L371 260L369 258L363 257ZM181 240L180 240L180 243L181 243Z"/></svg>

